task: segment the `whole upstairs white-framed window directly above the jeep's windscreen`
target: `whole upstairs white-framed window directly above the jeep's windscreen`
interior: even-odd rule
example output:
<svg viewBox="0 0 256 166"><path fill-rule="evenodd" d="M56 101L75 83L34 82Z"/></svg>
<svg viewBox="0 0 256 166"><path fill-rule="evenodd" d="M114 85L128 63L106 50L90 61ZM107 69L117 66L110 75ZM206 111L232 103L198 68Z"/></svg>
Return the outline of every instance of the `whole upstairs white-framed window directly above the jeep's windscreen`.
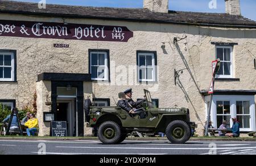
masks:
<svg viewBox="0 0 256 166"><path fill-rule="evenodd" d="M138 79L139 81L156 81L156 55L150 52L138 52Z"/></svg>

